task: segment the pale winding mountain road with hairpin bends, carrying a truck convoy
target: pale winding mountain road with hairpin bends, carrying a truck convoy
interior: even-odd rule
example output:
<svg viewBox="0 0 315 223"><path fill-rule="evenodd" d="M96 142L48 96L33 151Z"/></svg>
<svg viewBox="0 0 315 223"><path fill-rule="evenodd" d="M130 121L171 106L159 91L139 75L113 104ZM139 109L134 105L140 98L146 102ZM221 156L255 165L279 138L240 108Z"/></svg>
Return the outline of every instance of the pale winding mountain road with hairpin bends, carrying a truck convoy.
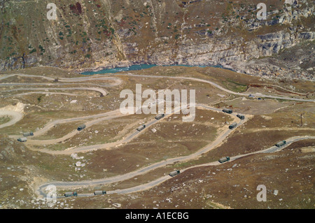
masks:
<svg viewBox="0 0 315 223"><path fill-rule="evenodd" d="M55 81L55 78L50 78L50 77L46 77L46 76L38 76L38 75L25 75L25 74L13 74L13 75L4 75L4 76L0 76L0 80L4 80L6 78L10 78L13 76L21 76L21 77L29 77L29 78L44 78L46 80L50 80L50 81ZM192 81L197 81L197 82L204 82L207 83L209 85L212 85L218 89L221 89L224 92L227 92L228 94L235 94L235 95L239 95L239 96L249 96L248 93L238 93L238 92L232 92L229 89L225 89L224 87L221 87L221 85L216 84L215 82L211 82L209 80L204 80L204 79L200 79L200 78L188 78L188 77L174 77L174 76L160 76L160 75L135 75L135 74L131 74L131 73L127 73L127 74L111 74L111 76L118 76L118 75L122 75L122 76L134 76L134 77L141 77L141 78L169 78L169 79L177 79L177 80L192 80ZM122 80L120 80L120 78L113 78L113 77L109 77L109 75L97 75L97 76L90 76L90 77L82 77L82 78L58 78L57 82L86 82L86 81L90 81L90 80L111 80L114 83L110 84L111 86L117 86L120 85L122 83ZM48 83L0 83L0 86L15 86L15 85L51 85ZM55 85L55 84L54 84ZM53 89L53 90L92 90L92 91L97 91L100 92L103 95L106 95L106 91L102 88L99 87L48 87L48 88L20 88L20 89L10 89L7 90L6 92L12 92L12 91L18 91L18 90L48 90L48 89ZM32 92L31 92L32 93ZM27 94L27 93L25 93ZM28 93L30 94L30 92ZM304 101L304 102L314 102L314 100L311 99L299 99L299 98L293 98L293 97L288 97L288 96L273 96L273 95L265 95L265 94L252 94L253 96L257 96L257 97L265 97L265 98L269 98L269 99L283 99L283 100L289 100L289 101ZM211 106L206 106L206 105L202 105L202 104L198 104L196 106L200 106L204 109L210 109L210 110L215 110L218 112L221 112L221 109L218 108L212 108ZM176 108L177 109L177 108ZM0 110L0 116L2 115L7 115L8 113L12 113L12 111L6 111L6 110ZM73 122L76 120L84 120L84 119L91 119L91 118L98 118L97 120L92 120L90 122L86 122L87 123L87 127L90 127L92 124L96 124L98 122L102 122L103 120L109 120L115 117L120 117L121 114L118 113L118 111L113 111L113 112L109 112L109 113L104 113L104 114L99 114L99 115L90 115L90 116L86 116L86 117L77 117L77 118L70 118L70 119L66 119L66 120L55 120L53 122L49 122L48 124L45 125L45 127L43 127L43 129L41 129L40 131L37 131L36 133L34 133L34 136L40 136L41 134L44 134L45 132L47 132L50 128L52 128L53 126L55 126L55 124L60 124L60 123L66 123L66 122ZM231 114L234 118L236 118L236 114L232 113ZM5 123L5 124L1 124L0 128L3 127L7 127L10 126L11 124L15 124L16 122L18 122L18 120L22 117L20 117L18 114L15 115L11 115L13 116L13 120L10 120L9 122ZM164 117L166 118L168 117L167 115ZM164 119L162 118L162 120ZM245 120L239 120L237 127L241 126L241 124L244 124L244 122L246 122L248 120L248 117L245 118ZM150 120L149 122L146 123L146 127L150 127L151 125L155 124L159 122L159 120ZM146 128L147 129L147 128ZM146 131L146 129L144 131ZM80 147L80 148L73 148L70 150L64 150L64 151L51 151L51 150L38 150L41 152L47 152L50 154L72 154L73 152L88 152L91 150L98 150L98 149L104 149L104 148L109 148L113 145L118 145L118 143L127 143L129 141L131 141L133 138L139 136L139 134L141 134L144 131L134 131L132 134L126 136L125 138L123 138L122 141L118 141L115 143L106 143L103 145L90 145L90 146L85 146L85 147ZM197 152L190 154L188 156L185 157L175 157L172 159L167 159L167 160L163 160L160 161L158 163L155 164L151 164L149 166L146 166L144 168L140 168L137 171L133 171L131 173L125 173L123 175L117 175L111 178L104 178L104 179L99 179L99 180L83 180L83 181L78 181L78 182L47 182L43 185L41 185L40 187L38 187L38 193L41 196L45 196L45 192L44 189L45 187L47 187L48 185L55 185L56 187L60 187L60 188L71 188L71 187L86 187L86 186L92 186L92 185L106 185L109 183L113 183L113 182L121 182L123 180L128 180L130 178L134 178L137 175L142 175L144 173L148 173L149 171L153 171L157 168L161 168L163 166L166 166L168 164L174 164L176 162L182 162L182 161L189 161L191 159L196 159L197 157L200 157L200 155L209 152L210 150L213 150L214 148L217 148L218 145L221 145L221 143L224 141L225 138L227 138L232 131L235 131L235 129L225 129L217 138L215 141L211 142L209 145L207 145L206 147L202 148L201 150L198 150ZM55 139L55 140L48 140L48 141L35 141L35 140L29 140L29 143L34 143L35 144L41 144L41 143L56 143L56 142L60 142L60 141L64 141L67 138L71 138L76 134L75 131L72 131L69 134L66 134L66 136L63 136L62 138L59 139ZM15 136L13 136L15 137ZM269 153L269 152L278 152L280 150L283 150L283 148L286 148L288 145L290 145L291 143L294 143L296 141L302 141L305 139L313 139L315 138L314 136L296 136L293 138L288 138L287 144L283 145L281 148L278 148L276 146L272 146L266 150L262 150L262 151L258 151L258 152L252 152L252 153L248 153L248 154L241 154L235 157L230 157L230 161L235 161L236 159L239 159L241 157L245 157L251 154L257 154L257 153ZM216 166L216 165L221 165L221 163L219 163L218 161L214 161L211 162L209 164L201 164L198 166ZM192 166L186 169L181 170L181 173L183 173L184 171L187 171L190 168L196 168L198 166ZM162 176L161 178L158 178L157 180L153 180L152 182L148 182L144 185L139 185L137 187L132 187L132 188L127 188L127 189L118 189L115 191L111 191L111 192L107 192L107 194L128 194L128 193L132 193L132 192L139 192L145 189L149 189L151 187L155 187L156 185L159 185L162 182L165 182L165 180L168 180L169 178L171 178L169 175L165 175ZM91 196L92 194L78 194L78 196Z"/></svg>

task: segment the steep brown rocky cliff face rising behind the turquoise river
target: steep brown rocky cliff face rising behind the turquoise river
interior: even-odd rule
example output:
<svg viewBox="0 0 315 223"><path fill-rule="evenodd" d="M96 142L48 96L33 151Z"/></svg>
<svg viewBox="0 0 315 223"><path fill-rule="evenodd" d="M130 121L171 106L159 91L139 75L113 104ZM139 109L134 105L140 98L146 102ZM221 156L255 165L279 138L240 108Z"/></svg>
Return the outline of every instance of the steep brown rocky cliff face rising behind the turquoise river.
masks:
<svg viewBox="0 0 315 223"><path fill-rule="evenodd" d="M239 64L314 41L313 1L0 1L0 70L130 64ZM309 75L307 73L306 75Z"/></svg>

